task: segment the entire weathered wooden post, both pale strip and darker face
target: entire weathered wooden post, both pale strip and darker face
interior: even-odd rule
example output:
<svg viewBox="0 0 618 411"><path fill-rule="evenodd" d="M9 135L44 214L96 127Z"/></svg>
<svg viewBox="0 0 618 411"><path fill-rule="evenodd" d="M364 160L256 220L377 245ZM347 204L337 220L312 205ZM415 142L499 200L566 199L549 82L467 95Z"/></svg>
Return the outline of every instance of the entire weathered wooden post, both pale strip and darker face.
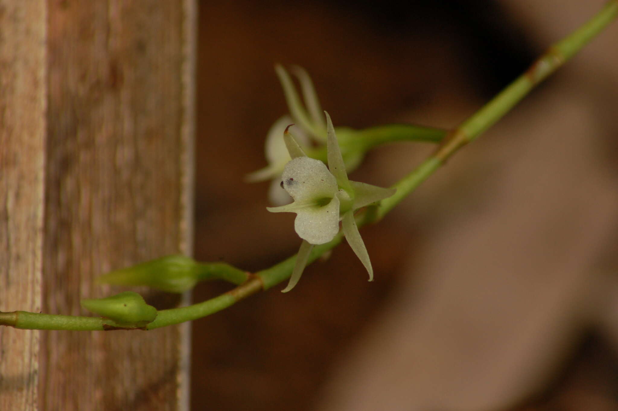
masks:
<svg viewBox="0 0 618 411"><path fill-rule="evenodd" d="M191 251L194 7L0 0L0 310L86 315L99 274ZM2 411L188 409L188 324L1 328Z"/></svg>

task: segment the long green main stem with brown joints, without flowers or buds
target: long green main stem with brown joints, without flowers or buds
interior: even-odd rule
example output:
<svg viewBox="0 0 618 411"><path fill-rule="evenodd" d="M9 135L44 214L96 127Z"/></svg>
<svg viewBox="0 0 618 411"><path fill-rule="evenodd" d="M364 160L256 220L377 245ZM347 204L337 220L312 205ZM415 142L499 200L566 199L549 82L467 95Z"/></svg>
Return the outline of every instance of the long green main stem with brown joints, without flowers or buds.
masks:
<svg viewBox="0 0 618 411"><path fill-rule="evenodd" d="M392 187L397 189L397 193L381 202L381 205L369 207L365 213L357 216L359 226L375 221L383 217L392 210L400 201L425 181L433 172L436 171L447 158L457 150L476 137L485 132L491 125L501 119L515 104L527 95L538 83L549 74L564 64L570 57L574 56L588 41L598 35L603 28L612 22L618 15L618 0L607 2L606 6L562 41L554 44L543 54L530 68L515 79L506 89L499 93L493 100L489 101L483 108L473 114L467 121L464 121L457 129L449 133L449 137L442 142L436 153L426 159L420 166L410 174L399 180ZM392 127L392 126L385 126ZM386 130L386 128L385 128ZM381 135L376 133L374 135ZM386 133L387 131L384 131ZM373 138L373 137L372 137ZM374 138L379 140L378 137ZM392 138L383 137L380 143L392 141ZM324 156L326 157L326 156ZM314 261L323 253L334 248L341 242L341 232L331 242L317 245L313 248L309 261ZM245 299L249 295L256 294L261 290L269 289L289 278L294 268L296 256L291 256L287 260L262 270L256 274L250 274L249 279L240 286L225 294L214 297L205 302L190 305L188 307L172 308L170 310L158 311L158 315L152 323L142 329L153 329L172 324L184 323L185 321L196 320L224 308L230 307L234 303ZM233 281L232 281L233 282ZM110 320L96 317L66 316L66 315L47 315L28 313L26 311L13 311L11 313L0 313L0 325L14 326L16 328L27 329L71 329L71 330L103 330L103 329L130 329L118 327Z"/></svg>

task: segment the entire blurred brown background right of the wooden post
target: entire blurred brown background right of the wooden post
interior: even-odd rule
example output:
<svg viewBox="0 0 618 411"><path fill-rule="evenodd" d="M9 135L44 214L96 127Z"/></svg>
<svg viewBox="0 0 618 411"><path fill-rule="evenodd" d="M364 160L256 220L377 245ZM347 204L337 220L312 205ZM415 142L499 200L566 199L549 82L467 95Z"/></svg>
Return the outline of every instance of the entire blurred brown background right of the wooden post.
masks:
<svg viewBox="0 0 618 411"><path fill-rule="evenodd" d="M552 3L557 9L567 7ZM501 4L420 1L407 10L390 2L375 6L345 1L201 2L197 258L224 260L255 271L286 258L300 243L292 229L292 214L265 211L267 184L243 182L247 172L265 166L266 131L287 111L274 62L298 64L310 72L323 108L336 125L362 128L415 121L454 127L601 3L576 12L575 19L564 19L564 25L552 15L553 32L538 30L545 27L545 20L534 14L532 2ZM569 7L578 5L570 2ZM456 406L444 404L464 403L457 389L464 389L465 380L478 381L466 394L470 404L482 404L477 400L483 397L487 404L513 410L618 409L616 345L604 331L587 337L582 345L592 324L603 323L592 319L600 309L590 308L589 300L608 298L597 297L603 287L587 281L586 270L594 268L599 275L590 276L599 278L617 265L616 237L608 233L616 231L617 222L611 187L617 171L612 110L618 101L618 77L609 69L599 72L596 68L601 65L594 63L595 56L606 58L603 46L612 38L616 30L599 38L596 48L593 44L573 67L565 67L536 91L500 129L455 156L384 221L363 229L375 282L366 281L362 265L344 244L329 261L308 268L293 292L283 295L276 287L195 321L193 409L356 411L360 408L352 406L353 399L365 399L365 404L373 400L384 404L382 409L455 411ZM614 53L612 64L615 57ZM590 66L586 58L593 61ZM391 184L430 150L424 145L381 148L352 177ZM562 207L561 201L569 207ZM538 231L531 230L535 224ZM492 235L501 233L502 241L494 241L497 237ZM509 261L507 235L513 235L518 252L529 250L531 261L536 261L522 277L508 267L494 276L489 271L491 261L525 267L516 254ZM458 255L461 243L454 238L468 247L484 239L489 254L472 248ZM503 244L502 250L496 250L496 244ZM572 260L564 260L568 255L574 256ZM485 261L486 271L476 276L479 261ZM460 274L459 266L466 267ZM569 268L572 273L563 281L561 270ZM488 291L485 294L491 298L485 298L470 289L483 276L505 294ZM510 278L520 288L509 289L501 278ZM434 294L423 288L426 279L433 281ZM586 290L582 284L587 284ZM449 287L454 294L448 294ZM532 288L536 291L531 294ZM200 301L223 290L226 286L204 284L193 298ZM466 298L477 292L478 304L467 303ZM483 305L492 301L493 306ZM504 307L498 308L502 303ZM421 318L423 304L437 307L436 321ZM468 312L470 307L476 307L476 314ZM477 325L488 326L489 333L502 330L502 345L485 339L485 331L449 328L449 319L457 318L449 310L459 312L460 318L474 315ZM517 316L520 310L528 310L523 320ZM415 325L423 321L426 333ZM415 336L415 344L423 344L423 338L436 335L431 330L440 324L453 330L449 344L457 347L468 341L470 350L462 352L475 356L452 361L440 351L444 341L438 339L423 345L423 352L436 361L442 358L439 369L451 371L450 375L440 379L415 374L414 364L398 359L397 350L412 347L406 343L407 331ZM546 338L554 327L559 331ZM518 329L523 333L518 341L526 343L507 344ZM540 342L543 349L536 350ZM479 351L478 344L488 349ZM504 355L510 357L500 357ZM483 365L507 361L512 367ZM457 368L458 363L469 365ZM397 397L401 391L389 394L362 385L386 384L387 374L416 389L433 381L436 395L443 398L422 408L415 402L418 397L406 402L405 395ZM498 388L492 391L491 383ZM406 384L400 385L405 392ZM403 402L386 407L381 396Z"/></svg>

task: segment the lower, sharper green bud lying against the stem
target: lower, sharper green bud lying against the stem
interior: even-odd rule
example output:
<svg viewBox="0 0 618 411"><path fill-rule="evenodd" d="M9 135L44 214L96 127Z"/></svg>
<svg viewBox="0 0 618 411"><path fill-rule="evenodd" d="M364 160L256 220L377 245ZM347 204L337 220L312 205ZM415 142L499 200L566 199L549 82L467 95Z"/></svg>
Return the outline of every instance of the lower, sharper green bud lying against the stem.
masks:
<svg viewBox="0 0 618 411"><path fill-rule="evenodd" d="M104 299L84 299L82 307L124 326L143 327L155 321L156 308L146 304L142 295L125 291Z"/></svg>

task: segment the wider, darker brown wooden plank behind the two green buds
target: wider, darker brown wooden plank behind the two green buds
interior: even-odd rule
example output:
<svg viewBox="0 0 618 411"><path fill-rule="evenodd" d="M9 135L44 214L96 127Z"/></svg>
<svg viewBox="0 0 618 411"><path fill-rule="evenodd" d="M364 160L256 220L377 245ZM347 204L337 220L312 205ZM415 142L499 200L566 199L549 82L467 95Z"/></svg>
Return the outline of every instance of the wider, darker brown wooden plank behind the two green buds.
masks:
<svg viewBox="0 0 618 411"><path fill-rule="evenodd" d="M98 274L190 252L191 6L48 1L43 311L86 314L117 291ZM187 330L41 333L40 409L185 409Z"/></svg>

